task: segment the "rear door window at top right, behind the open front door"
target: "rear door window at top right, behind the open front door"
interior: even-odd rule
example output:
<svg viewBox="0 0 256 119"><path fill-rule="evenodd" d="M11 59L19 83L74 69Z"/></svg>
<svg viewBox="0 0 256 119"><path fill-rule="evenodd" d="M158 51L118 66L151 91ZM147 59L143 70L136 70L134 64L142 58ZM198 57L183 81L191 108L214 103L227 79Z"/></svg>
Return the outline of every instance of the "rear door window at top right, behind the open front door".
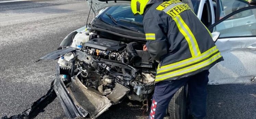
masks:
<svg viewBox="0 0 256 119"><path fill-rule="evenodd" d="M249 3L244 0L219 0L219 3L217 4L220 6L219 19L227 16L228 14L236 10L250 6Z"/></svg>

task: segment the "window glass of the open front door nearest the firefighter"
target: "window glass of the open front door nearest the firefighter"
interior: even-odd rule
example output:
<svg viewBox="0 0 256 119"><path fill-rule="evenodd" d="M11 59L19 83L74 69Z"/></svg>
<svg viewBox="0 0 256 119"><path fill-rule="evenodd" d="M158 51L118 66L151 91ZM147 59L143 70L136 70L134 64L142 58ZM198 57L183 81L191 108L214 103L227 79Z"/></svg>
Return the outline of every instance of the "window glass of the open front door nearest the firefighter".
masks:
<svg viewBox="0 0 256 119"><path fill-rule="evenodd" d="M251 8L251 7L250 7ZM213 32L220 32L220 37L244 37L256 36L256 7L245 8L240 12L234 12L224 21L213 25ZM210 26L209 29L212 26Z"/></svg>

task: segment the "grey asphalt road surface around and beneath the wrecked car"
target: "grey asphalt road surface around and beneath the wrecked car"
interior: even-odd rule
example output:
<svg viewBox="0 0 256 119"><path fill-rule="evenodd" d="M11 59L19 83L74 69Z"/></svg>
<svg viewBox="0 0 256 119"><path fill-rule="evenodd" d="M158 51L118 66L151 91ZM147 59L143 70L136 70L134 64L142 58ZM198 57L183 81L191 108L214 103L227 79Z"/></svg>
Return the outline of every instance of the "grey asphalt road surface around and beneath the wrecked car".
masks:
<svg viewBox="0 0 256 119"><path fill-rule="evenodd" d="M56 61L34 62L85 26L87 15L88 7L81 0L0 4L0 117L21 113L48 91ZM206 119L256 118L255 84L208 85L207 90ZM143 119L141 106L125 100L99 119ZM63 119L65 115L55 100L36 118Z"/></svg>

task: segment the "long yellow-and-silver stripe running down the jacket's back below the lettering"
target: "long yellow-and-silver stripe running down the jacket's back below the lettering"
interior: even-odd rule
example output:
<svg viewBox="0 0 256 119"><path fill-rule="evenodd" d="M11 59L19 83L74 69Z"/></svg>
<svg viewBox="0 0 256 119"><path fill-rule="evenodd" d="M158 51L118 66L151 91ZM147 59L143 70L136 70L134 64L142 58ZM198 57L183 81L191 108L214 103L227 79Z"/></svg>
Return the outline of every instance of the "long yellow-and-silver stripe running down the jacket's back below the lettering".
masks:
<svg viewBox="0 0 256 119"><path fill-rule="evenodd" d="M183 21L180 15L177 15L175 18L173 18L176 22L181 34L185 37L189 44L189 49L191 52L192 57L195 57L197 55L200 55L201 52L199 50L198 44L195 40L194 35L192 34L191 30L187 26L187 24Z"/></svg>

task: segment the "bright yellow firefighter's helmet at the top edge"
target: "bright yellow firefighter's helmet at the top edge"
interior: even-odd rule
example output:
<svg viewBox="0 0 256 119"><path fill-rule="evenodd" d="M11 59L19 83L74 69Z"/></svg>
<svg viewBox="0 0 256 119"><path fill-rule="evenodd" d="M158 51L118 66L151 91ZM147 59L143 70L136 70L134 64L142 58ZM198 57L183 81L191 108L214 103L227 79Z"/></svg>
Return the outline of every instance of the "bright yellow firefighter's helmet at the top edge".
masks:
<svg viewBox="0 0 256 119"><path fill-rule="evenodd" d="M133 14L144 13L144 9L150 0L131 0L131 11Z"/></svg>

